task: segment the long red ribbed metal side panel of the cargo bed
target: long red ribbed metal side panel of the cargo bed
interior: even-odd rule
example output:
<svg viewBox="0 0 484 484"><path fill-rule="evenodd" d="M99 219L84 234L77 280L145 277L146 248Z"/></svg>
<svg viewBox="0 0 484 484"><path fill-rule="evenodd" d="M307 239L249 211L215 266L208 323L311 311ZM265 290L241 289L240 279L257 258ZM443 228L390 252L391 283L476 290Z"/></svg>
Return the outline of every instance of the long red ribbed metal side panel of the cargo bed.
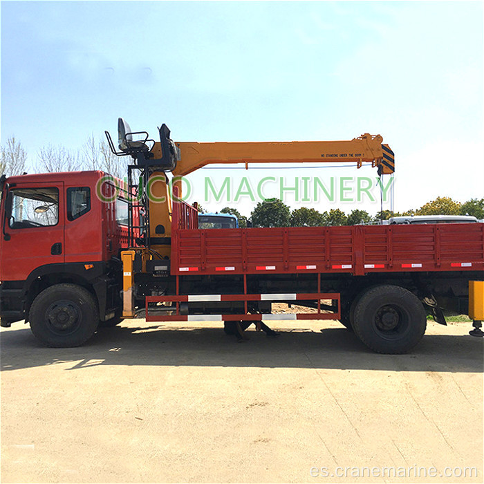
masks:
<svg viewBox="0 0 484 484"><path fill-rule="evenodd" d="M174 226L172 250L172 274L484 270L484 224L221 230Z"/></svg>

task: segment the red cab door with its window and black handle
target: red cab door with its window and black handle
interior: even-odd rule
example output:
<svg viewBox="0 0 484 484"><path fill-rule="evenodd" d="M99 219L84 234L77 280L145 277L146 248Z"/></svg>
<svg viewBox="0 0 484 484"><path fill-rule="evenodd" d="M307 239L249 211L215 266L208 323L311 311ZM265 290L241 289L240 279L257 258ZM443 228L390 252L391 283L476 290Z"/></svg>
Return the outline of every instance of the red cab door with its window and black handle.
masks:
<svg viewBox="0 0 484 484"><path fill-rule="evenodd" d="M10 186L1 223L1 281L24 281L39 266L64 263L64 183Z"/></svg>

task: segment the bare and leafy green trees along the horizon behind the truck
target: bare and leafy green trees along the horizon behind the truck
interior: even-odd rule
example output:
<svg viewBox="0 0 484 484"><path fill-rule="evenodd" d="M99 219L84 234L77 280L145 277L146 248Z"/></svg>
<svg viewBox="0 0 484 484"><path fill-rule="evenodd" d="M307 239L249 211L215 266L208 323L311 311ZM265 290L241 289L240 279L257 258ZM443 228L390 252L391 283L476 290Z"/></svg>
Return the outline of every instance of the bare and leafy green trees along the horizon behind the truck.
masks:
<svg viewBox="0 0 484 484"><path fill-rule="evenodd" d="M127 163L121 160L111 152L105 140L97 140L94 134L91 134L77 150L66 149L63 145L41 147L37 152L35 165L29 168L34 172L101 169L123 178L127 173ZM0 174L19 175L26 169L27 153L21 142L16 140L15 136L10 136L5 145L1 146ZM225 207L221 212L235 215L241 227L247 227L249 219L253 227L315 227L371 223L381 219L387 220L391 216L389 210L377 212L373 217L366 210L353 210L346 214L339 208L318 212L314 208L301 207L291 211L288 205L277 198L258 203L249 219L232 207ZM465 203L460 203L447 196L439 196L418 209L393 214L402 215L472 215L484 218L484 198L471 198Z"/></svg>

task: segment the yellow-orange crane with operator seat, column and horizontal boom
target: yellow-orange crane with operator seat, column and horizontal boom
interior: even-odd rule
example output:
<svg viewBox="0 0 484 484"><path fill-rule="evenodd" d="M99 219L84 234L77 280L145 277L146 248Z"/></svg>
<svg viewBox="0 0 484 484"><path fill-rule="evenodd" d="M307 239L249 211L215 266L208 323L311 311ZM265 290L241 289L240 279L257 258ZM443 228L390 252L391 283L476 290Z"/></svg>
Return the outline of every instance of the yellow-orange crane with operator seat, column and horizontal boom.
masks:
<svg viewBox="0 0 484 484"><path fill-rule="evenodd" d="M321 163L355 162L360 168L370 163L378 168L378 174L392 174L395 157L388 145L382 144L380 135L364 133L347 141L289 141L289 142L174 142L165 124L158 129L160 141L148 140L145 131L132 132L129 124L119 118L116 151L106 131L113 152L131 155L136 166L145 173L149 186L149 241L147 245L169 257L171 237L171 198L164 176L166 171L174 177L186 176L211 164L243 163L245 167L255 163ZM133 140L133 136L145 136ZM176 181L179 196L181 183ZM151 243L150 243L151 241Z"/></svg>

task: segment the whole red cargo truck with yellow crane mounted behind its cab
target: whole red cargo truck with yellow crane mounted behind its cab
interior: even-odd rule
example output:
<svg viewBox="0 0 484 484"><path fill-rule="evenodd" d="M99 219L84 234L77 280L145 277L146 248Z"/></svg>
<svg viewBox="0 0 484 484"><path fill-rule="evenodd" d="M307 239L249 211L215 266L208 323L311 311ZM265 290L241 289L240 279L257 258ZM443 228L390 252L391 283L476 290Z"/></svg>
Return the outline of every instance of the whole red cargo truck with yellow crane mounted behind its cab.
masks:
<svg viewBox="0 0 484 484"><path fill-rule="evenodd" d="M339 142L346 143L340 160L355 148L360 161L380 166L381 137L371 159L360 141ZM124 124L121 151L114 151L134 163L128 187L115 197L118 184L101 171L3 177L1 326L25 319L44 344L79 346L99 324L140 312L147 321L339 319L373 351L404 353L424 335L427 312L445 324L446 309L469 314L471 334L484 334L484 224L199 230L196 209L178 198L178 187L173 201L160 201L168 187L159 178L156 203L125 195L165 171L177 176L193 145L172 142L163 125L160 143L148 147L133 142ZM198 153L221 151L206 145ZM234 162L230 144L221 145ZM313 145L288 160L321 162L334 151ZM239 158L271 160L271 147L241 149ZM190 156L190 171L223 159ZM136 171L140 185L131 183ZM275 315L274 302L311 309Z"/></svg>

